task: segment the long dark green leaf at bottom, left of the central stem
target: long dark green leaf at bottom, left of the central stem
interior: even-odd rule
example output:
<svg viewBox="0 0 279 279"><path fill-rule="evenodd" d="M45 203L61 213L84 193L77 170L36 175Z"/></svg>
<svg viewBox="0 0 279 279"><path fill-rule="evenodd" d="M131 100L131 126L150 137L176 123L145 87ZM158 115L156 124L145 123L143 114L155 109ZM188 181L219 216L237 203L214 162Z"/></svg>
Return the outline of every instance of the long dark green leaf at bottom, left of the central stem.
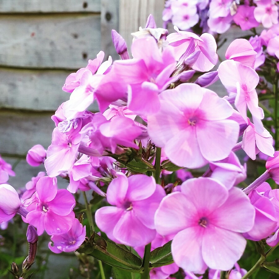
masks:
<svg viewBox="0 0 279 279"><path fill-rule="evenodd" d="M92 257L103 261L114 267L120 267L124 269L130 269L139 271L142 265L142 261L133 253L124 250L119 247L113 241L107 240L105 241L107 244L106 250L98 246L98 243L105 241L98 234L95 234L95 249L90 253Z"/></svg>

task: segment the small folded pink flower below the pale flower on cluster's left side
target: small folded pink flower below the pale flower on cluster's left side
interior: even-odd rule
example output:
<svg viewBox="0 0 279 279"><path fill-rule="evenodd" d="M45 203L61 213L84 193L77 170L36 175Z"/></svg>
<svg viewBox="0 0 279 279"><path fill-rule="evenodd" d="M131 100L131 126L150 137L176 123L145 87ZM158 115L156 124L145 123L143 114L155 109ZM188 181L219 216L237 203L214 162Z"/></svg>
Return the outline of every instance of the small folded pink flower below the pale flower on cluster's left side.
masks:
<svg viewBox="0 0 279 279"><path fill-rule="evenodd" d="M91 173L91 162L87 155L82 155L73 165L73 167L68 170L68 175L70 179L69 186L67 190L70 193L76 193L78 186L80 184L80 179L86 178Z"/></svg>

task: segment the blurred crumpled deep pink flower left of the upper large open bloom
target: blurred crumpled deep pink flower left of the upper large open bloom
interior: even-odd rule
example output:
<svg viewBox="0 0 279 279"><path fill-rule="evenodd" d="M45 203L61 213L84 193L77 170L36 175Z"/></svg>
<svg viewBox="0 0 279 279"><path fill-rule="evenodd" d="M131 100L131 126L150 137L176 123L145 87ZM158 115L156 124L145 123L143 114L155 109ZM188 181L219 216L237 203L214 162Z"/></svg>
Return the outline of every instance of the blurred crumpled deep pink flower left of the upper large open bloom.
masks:
<svg viewBox="0 0 279 279"><path fill-rule="evenodd" d="M84 126L81 133L88 133L91 141L89 146L100 154L105 149L115 153L117 145L138 148L133 141L143 133L143 128L127 117L117 116L106 120L101 113L96 113L93 123Z"/></svg>

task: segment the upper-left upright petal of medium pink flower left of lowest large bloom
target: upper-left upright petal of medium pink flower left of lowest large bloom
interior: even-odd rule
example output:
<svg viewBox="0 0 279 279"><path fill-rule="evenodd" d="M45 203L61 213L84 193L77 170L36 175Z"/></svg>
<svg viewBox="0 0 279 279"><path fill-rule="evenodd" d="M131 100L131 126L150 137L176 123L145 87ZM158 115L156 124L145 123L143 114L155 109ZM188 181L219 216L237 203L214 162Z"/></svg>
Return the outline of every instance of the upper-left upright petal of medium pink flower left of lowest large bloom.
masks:
<svg viewBox="0 0 279 279"><path fill-rule="evenodd" d="M117 177L108 185L107 200L111 205L122 206L125 202L128 190L128 178L122 173L117 173Z"/></svg>

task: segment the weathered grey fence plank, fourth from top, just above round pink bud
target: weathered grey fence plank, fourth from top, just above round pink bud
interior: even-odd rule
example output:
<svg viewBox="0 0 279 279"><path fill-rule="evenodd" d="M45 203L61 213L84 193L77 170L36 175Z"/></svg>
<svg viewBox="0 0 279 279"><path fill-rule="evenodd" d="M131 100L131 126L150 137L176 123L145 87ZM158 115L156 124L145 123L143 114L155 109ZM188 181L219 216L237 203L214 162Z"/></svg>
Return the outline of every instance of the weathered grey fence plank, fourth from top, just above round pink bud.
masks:
<svg viewBox="0 0 279 279"><path fill-rule="evenodd" d="M0 111L0 154L26 155L35 144L47 148L55 127L52 114Z"/></svg>

